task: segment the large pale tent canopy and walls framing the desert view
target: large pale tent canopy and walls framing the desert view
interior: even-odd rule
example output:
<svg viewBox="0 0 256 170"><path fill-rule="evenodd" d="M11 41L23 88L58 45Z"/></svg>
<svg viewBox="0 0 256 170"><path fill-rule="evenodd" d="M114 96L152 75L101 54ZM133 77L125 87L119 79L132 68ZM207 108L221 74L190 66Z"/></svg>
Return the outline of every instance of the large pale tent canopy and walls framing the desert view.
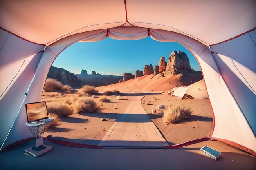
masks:
<svg viewBox="0 0 256 170"><path fill-rule="evenodd" d="M25 104L40 101L64 49L150 36L179 42L198 60L214 113L211 138L255 155L255 9L254 0L1 1L0 150L31 137Z"/></svg>

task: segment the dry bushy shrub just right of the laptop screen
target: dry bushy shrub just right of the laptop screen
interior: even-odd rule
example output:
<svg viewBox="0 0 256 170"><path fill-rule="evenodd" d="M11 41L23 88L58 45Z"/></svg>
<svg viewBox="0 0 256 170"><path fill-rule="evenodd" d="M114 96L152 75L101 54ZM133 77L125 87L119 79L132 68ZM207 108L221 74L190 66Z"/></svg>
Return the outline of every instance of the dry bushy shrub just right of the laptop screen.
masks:
<svg viewBox="0 0 256 170"><path fill-rule="evenodd" d="M60 117L67 117L74 112L74 109L70 105L66 103L59 104L56 102L51 102L47 104L47 110L48 113L55 113Z"/></svg>

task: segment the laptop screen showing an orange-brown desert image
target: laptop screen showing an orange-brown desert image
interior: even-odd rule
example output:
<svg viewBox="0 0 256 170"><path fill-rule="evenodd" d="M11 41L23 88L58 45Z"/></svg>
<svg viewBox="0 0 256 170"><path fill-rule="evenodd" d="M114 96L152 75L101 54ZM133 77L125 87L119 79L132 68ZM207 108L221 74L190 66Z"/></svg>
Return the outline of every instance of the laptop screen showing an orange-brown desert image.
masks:
<svg viewBox="0 0 256 170"><path fill-rule="evenodd" d="M27 103L27 121L39 121L42 119L48 119L46 102Z"/></svg>

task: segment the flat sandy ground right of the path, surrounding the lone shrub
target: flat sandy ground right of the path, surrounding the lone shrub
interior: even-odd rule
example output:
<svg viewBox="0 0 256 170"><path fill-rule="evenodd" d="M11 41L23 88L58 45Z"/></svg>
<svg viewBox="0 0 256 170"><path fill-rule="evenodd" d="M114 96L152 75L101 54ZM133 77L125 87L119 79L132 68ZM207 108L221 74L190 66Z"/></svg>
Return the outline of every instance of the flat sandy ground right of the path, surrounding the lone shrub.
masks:
<svg viewBox="0 0 256 170"><path fill-rule="evenodd" d="M152 99L152 97L156 99ZM150 105L146 103L148 101ZM150 119L162 132L169 144L180 144L185 141L209 137L213 126L213 113L209 99L183 99L166 94L146 95L142 99L142 106ZM145 104L143 104L145 103ZM158 110L158 105L179 104L188 106L193 111L190 118L184 119L177 124L163 122L163 109L159 113L152 114L152 109Z"/></svg>

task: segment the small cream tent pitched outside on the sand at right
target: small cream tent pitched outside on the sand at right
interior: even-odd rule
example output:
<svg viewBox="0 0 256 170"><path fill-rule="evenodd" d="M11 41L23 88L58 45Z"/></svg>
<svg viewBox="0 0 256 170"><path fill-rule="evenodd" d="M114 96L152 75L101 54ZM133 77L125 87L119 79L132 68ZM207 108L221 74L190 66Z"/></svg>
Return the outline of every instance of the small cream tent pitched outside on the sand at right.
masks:
<svg viewBox="0 0 256 170"><path fill-rule="evenodd" d="M172 91L174 96L181 97L181 99L185 96L193 99L208 99L203 79L189 86L175 87Z"/></svg>

